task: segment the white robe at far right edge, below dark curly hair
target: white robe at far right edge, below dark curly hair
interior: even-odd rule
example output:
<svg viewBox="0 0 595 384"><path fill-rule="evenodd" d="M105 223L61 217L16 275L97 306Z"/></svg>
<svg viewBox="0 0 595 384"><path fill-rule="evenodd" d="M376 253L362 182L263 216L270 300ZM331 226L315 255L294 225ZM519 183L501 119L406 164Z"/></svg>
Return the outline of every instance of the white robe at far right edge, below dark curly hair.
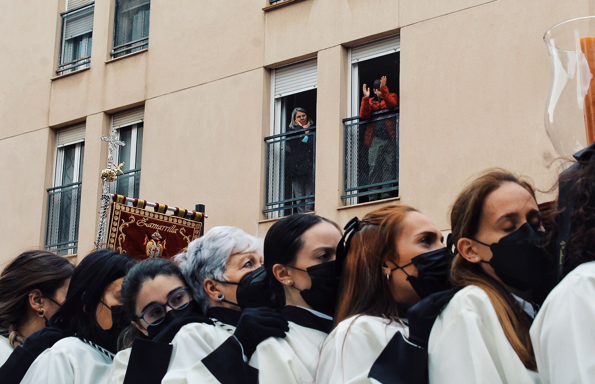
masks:
<svg viewBox="0 0 595 384"><path fill-rule="evenodd" d="M568 273L531 326L544 384L595 383L595 262Z"/></svg>

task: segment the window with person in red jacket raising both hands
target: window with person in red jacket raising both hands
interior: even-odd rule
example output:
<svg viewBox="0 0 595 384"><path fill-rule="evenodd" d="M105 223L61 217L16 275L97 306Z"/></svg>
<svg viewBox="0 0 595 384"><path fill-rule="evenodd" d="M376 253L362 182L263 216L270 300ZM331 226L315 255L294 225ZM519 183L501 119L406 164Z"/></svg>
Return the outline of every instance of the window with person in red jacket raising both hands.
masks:
<svg viewBox="0 0 595 384"><path fill-rule="evenodd" d="M345 194L347 205L399 196L399 108L388 108L399 97L399 36L385 37L349 50L350 114L345 123ZM380 100L374 81L387 77L389 94ZM359 116L369 88L369 103L385 109ZM394 97L396 95L396 97ZM388 105L387 105L388 104ZM371 104L369 104L371 105ZM390 109L390 110L389 110ZM371 111L371 109L370 109Z"/></svg>

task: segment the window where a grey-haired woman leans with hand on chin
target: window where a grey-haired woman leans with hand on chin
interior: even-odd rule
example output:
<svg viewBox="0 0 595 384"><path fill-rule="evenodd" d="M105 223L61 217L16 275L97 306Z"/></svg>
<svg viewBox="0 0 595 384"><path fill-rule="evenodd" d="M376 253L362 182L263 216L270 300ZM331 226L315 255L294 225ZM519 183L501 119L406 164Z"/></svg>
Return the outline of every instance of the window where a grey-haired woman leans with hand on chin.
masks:
<svg viewBox="0 0 595 384"><path fill-rule="evenodd" d="M314 210L316 92L316 59L271 71L271 136L265 137L267 196L263 211L269 218ZM301 108L297 115L305 115L303 123L292 122L296 108Z"/></svg>

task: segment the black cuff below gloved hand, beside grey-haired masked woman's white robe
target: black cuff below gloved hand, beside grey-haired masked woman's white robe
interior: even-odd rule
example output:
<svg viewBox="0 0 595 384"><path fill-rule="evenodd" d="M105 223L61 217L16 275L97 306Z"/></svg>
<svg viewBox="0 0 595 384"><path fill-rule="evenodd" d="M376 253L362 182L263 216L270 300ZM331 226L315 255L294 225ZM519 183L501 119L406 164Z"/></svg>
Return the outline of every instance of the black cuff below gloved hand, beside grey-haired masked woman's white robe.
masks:
<svg viewBox="0 0 595 384"><path fill-rule="evenodd" d="M233 336L203 358L202 363L221 384L258 383L258 369L244 362L242 347Z"/></svg>

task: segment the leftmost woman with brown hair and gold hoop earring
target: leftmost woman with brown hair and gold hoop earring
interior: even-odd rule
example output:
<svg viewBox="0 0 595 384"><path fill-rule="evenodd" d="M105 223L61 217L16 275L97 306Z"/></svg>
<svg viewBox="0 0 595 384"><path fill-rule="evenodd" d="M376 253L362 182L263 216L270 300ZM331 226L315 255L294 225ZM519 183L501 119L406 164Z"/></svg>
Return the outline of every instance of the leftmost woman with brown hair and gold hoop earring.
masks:
<svg viewBox="0 0 595 384"><path fill-rule="evenodd" d="M44 328L60 308L73 270L74 265L64 257L41 250L23 252L4 268L0 274L0 366L14 348L18 360L37 357L31 351L37 348L23 348L23 342Z"/></svg>

